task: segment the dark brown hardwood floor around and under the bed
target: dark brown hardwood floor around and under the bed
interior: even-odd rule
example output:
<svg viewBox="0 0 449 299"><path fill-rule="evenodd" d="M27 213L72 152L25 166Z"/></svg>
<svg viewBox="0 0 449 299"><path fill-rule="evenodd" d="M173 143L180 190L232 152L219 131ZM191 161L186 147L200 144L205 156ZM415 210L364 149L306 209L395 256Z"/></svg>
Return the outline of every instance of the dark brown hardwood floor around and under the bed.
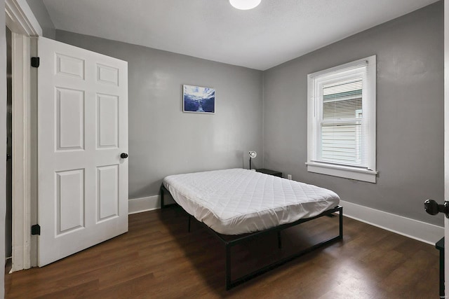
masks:
<svg viewBox="0 0 449 299"><path fill-rule="evenodd" d="M337 233L322 217L238 246L233 275ZM179 207L129 216L129 232L5 275L6 298L439 298L434 246L344 218L344 240L225 291L225 254Z"/></svg>

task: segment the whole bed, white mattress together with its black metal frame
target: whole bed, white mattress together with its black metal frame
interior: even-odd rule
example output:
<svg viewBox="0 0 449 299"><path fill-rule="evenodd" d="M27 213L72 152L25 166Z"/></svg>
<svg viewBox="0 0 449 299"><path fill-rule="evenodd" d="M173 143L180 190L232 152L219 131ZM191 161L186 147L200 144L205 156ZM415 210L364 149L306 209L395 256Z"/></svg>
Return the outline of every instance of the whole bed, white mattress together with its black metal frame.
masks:
<svg viewBox="0 0 449 299"><path fill-rule="evenodd" d="M191 218L195 218L225 244L228 290L343 237L340 197L331 190L306 183L248 169L222 169L166 176L161 186L162 208L166 207L167 192L190 215L189 230ZM232 279L231 249L236 244L276 231L281 248L281 230L335 212L340 216L339 235Z"/></svg>

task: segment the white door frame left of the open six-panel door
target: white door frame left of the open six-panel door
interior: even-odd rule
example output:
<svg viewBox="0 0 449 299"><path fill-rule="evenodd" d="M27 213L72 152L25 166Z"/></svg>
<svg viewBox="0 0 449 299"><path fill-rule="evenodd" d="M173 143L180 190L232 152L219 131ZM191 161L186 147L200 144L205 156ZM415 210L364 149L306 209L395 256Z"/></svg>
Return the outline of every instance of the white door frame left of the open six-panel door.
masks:
<svg viewBox="0 0 449 299"><path fill-rule="evenodd" d="M39 22L26 0L5 0L6 26L13 32L13 271L28 269L36 265L36 238L31 235L32 197L36 196L33 174L32 148L36 147L31 121L31 41L33 36L42 36ZM31 120L31 121L30 121ZM34 198L33 200L36 200Z"/></svg>

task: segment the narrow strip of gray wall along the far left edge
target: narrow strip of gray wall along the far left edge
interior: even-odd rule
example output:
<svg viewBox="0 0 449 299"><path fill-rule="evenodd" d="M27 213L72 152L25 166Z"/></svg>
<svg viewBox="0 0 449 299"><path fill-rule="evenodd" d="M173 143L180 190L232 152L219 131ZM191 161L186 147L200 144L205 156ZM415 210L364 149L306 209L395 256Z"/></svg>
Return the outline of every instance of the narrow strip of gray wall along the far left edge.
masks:
<svg viewBox="0 0 449 299"><path fill-rule="evenodd" d="M5 11L5 1L0 1L0 11ZM6 22L0 13L0 140L6 140ZM0 157L6 157L6 142L0 142ZM6 211L6 159L0 159L0 257L5 258L5 211ZM0 298L4 296L4 271L0 271Z"/></svg>

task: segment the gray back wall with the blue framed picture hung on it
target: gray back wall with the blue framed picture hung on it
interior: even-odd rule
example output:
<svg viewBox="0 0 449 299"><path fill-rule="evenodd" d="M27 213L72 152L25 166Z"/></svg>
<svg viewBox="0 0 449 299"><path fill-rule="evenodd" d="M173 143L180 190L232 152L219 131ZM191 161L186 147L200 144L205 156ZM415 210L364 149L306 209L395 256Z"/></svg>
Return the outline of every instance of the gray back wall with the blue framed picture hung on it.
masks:
<svg viewBox="0 0 449 299"><path fill-rule="evenodd" d="M262 71L57 30L56 39L128 62L129 198L168 174L248 167L261 155ZM182 84L215 88L215 114L183 113Z"/></svg>

